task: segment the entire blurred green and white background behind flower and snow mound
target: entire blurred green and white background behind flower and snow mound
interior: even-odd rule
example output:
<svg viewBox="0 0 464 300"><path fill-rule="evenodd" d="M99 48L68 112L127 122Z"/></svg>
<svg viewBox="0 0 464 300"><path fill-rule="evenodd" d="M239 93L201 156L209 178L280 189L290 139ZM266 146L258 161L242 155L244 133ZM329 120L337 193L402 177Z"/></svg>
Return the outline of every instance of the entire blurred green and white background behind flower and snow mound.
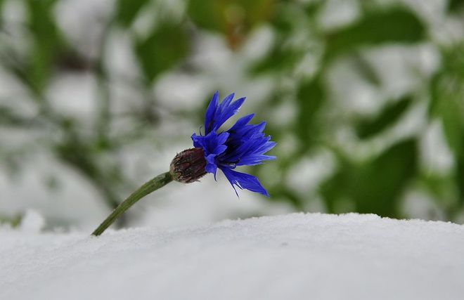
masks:
<svg viewBox="0 0 464 300"><path fill-rule="evenodd" d="M191 148L214 91L278 142L118 226L290 211L464 223L464 1L0 0L0 221L91 230Z"/></svg>

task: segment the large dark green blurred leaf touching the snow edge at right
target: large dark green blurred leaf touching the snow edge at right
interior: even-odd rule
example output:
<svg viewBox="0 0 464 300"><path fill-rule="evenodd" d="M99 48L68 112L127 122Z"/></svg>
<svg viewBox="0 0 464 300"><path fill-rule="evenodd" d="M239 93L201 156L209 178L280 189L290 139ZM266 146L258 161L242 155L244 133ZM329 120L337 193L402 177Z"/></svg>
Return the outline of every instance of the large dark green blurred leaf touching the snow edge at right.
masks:
<svg viewBox="0 0 464 300"><path fill-rule="evenodd" d="M416 141L409 139L361 164L342 161L339 171L321 186L328 210L334 212L337 201L349 199L354 211L401 217L400 196L417 172L417 158Z"/></svg>

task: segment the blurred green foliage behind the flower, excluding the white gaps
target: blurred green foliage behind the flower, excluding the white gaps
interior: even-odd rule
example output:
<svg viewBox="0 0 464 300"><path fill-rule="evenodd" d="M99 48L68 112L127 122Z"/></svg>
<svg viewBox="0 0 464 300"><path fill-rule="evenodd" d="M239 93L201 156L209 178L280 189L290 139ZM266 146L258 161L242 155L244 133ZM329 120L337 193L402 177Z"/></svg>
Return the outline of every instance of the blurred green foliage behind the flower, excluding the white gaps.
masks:
<svg viewBox="0 0 464 300"><path fill-rule="evenodd" d="M436 211L431 211L428 217L457 221L463 214L464 37L450 37L445 41L437 38L425 16L401 1L389 1L389 4L354 1L359 11L355 18L327 27L322 24L321 15L330 1L190 0L183 10L179 8L181 16L174 17L162 11L163 1L118 0L110 17L96 24L105 29L97 56L89 56L75 44L72 46L67 32L56 20L54 9L59 1L19 1L26 11L25 24L8 25L7 20L1 20L0 63L30 91L38 115L24 116L0 103L0 124L8 128L34 126L36 129L46 124L47 130L52 126L58 138L50 139L49 149L94 183L110 207L119 201L120 191L131 185L115 153L127 143L143 138L143 133L138 133L140 126L156 128L160 124L159 112L153 109L157 107L157 100L148 96L143 99L146 109L131 115L138 120L137 127L131 129L133 133L109 134L118 116L110 113L112 99L108 82L112 66L105 64L108 34L119 30L131 36L131 51L140 70L138 77L131 80L138 81L140 89L149 94L169 72L202 72L191 67L190 61L201 34L219 36L232 52L240 53L254 30L267 28L272 32L271 46L249 63L244 76L250 81L273 80L271 96L266 99L259 117L272 115L285 102L295 107L294 119L288 120L288 126L274 126L269 121L269 133L279 143L275 150L279 156L275 162L278 167L273 171L289 178L303 159L321 151L330 153L335 164L333 171L305 195L290 188L285 180L264 182L273 196L271 200L289 202L295 210L303 211L319 199L323 209L330 212L359 211L408 217L404 200L408 190L415 189L430 195L435 201L434 207L439 209L438 216ZM0 1L0 13L4 2ZM448 1L440 12L443 19L455 18L463 25L463 2ZM134 30L135 24L141 15L150 12L156 15L155 21L140 34ZM15 46L15 37L10 32L18 34L18 31L11 31L12 26L19 27L19 34L27 39L26 49ZM359 75L367 86L382 91L382 66L379 68L375 61L369 60L368 53L389 46L418 45L431 46L439 53L439 67L430 77L419 74L411 66L410 72L417 72L420 84L401 94L386 95L383 104L377 105L378 110L344 112L344 107L350 104L340 106L344 99L336 97L333 91L337 83L330 80L335 65L351 62L350 72ZM302 65L308 59L314 63L302 72ZM95 128L90 132L81 129L82 124L75 116L56 112L46 98L51 77L70 71L91 72L98 77L99 108ZM240 86L230 89L239 91ZM207 100L202 99L205 105ZM420 140L424 132L390 138L365 155L356 153L337 138L340 131L349 131L358 149L369 148L373 141L386 141L388 131L420 105L428 107L425 124L439 122L442 126L445 147L453 157L453 167L446 174L423 167L420 159L424 149ZM186 116L183 110L174 114ZM202 110L188 114L194 119L201 115ZM289 136L295 138L295 149L279 152L278 148L288 143ZM1 153L5 161L12 161L15 155L5 150ZM109 157L110 164L102 163L101 157ZM260 174L266 168L266 165L260 166L255 171Z"/></svg>

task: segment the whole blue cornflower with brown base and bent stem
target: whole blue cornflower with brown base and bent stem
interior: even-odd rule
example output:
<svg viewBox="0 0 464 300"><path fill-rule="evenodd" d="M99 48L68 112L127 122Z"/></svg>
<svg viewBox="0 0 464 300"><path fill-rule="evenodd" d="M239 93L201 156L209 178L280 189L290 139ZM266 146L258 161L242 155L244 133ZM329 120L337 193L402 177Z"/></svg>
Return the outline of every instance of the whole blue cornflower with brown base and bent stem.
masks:
<svg viewBox="0 0 464 300"><path fill-rule="evenodd" d="M263 133L266 122L248 124L254 114L238 119L231 129L219 131L219 127L238 112L245 102L245 98L233 100L233 93L224 98L219 104L219 93L214 93L205 115L205 135L192 135L195 148L183 150L172 159L169 171L150 179L134 193L131 193L114 211L101 223L92 235L101 235L124 211L134 205L142 197L162 188L171 181L192 183L206 173L214 174L221 169L232 188L245 188L254 193L269 197L266 189L259 183L258 178L250 174L235 171L237 166L254 166L262 164L264 160L276 159L275 156L264 155L276 143L271 136ZM235 186L234 186L235 185Z"/></svg>

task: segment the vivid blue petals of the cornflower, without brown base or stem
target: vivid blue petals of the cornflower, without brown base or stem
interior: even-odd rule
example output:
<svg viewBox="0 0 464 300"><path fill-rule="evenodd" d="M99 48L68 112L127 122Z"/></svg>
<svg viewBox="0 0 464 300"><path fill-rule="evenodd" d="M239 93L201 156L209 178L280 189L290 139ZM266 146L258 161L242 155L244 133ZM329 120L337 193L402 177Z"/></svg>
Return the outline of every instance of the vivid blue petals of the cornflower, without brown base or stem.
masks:
<svg viewBox="0 0 464 300"><path fill-rule="evenodd" d="M221 169L237 196L236 186L269 197L258 178L234 170L238 166L254 166L264 160L276 159L275 156L264 155L276 145L271 136L263 133L266 122L248 124L254 117L251 114L238 119L227 131L219 131L221 125L245 102L245 98L232 101L233 96L234 93L231 93L219 104L219 92L214 93L205 113L205 134L202 135L201 131L199 136L193 133L193 146L203 150L205 171L214 174L216 179L217 169Z"/></svg>

